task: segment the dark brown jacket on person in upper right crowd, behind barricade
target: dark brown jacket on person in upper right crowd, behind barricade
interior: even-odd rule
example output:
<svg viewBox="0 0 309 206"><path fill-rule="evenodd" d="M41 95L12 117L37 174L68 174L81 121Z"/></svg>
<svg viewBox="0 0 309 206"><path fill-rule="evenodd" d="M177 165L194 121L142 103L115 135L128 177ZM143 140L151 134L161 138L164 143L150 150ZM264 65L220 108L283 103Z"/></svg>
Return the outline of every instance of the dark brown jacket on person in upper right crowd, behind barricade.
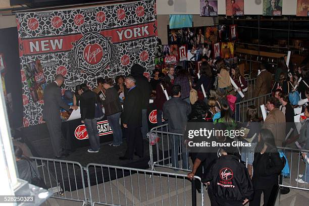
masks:
<svg viewBox="0 0 309 206"><path fill-rule="evenodd" d="M256 78L254 96L258 97L270 93L272 79L273 76L269 71L262 71Z"/></svg>

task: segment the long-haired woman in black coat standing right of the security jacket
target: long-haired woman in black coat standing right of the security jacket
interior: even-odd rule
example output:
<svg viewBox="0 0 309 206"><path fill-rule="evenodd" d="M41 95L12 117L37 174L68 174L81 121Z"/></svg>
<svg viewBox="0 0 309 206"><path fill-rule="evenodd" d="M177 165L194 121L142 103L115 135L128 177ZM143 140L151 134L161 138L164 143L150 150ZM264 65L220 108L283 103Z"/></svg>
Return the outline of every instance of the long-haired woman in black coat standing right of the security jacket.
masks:
<svg viewBox="0 0 309 206"><path fill-rule="evenodd" d="M274 135L269 129L260 131L258 141L253 161L254 197L250 201L250 206L260 206L262 192L264 194L264 205L268 205L274 186L279 184L278 176L284 167L275 146Z"/></svg>

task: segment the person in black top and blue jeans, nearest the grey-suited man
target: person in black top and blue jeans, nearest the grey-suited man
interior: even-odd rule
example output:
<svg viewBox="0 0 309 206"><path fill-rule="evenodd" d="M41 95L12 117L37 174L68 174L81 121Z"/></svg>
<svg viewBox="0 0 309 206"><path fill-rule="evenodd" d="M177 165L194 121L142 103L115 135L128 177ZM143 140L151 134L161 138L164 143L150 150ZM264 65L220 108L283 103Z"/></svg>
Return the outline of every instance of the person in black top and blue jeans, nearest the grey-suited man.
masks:
<svg viewBox="0 0 309 206"><path fill-rule="evenodd" d="M80 116L81 123L85 124L90 142L90 153L99 152L100 139L97 130L97 120L95 119L95 107L97 94L91 91L85 83L80 85L82 94L80 96Z"/></svg>

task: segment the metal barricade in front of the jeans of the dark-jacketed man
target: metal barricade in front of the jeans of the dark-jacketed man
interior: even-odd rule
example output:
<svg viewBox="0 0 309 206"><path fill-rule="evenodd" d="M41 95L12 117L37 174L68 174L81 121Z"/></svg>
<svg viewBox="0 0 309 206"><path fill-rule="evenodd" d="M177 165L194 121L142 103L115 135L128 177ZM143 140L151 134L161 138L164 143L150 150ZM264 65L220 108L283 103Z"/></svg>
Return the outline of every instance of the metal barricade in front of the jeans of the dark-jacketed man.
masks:
<svg viewBox="0 0 309 206"><path fill-rule="evenodd" d="M189 170L189 151L183 142L182 134L169 132L168 124L153 127L148 136L159 137L156 145L149 143L149 167L155 170L155 166L174 170ZM174 155L175 154L175 155Z"/></svg>

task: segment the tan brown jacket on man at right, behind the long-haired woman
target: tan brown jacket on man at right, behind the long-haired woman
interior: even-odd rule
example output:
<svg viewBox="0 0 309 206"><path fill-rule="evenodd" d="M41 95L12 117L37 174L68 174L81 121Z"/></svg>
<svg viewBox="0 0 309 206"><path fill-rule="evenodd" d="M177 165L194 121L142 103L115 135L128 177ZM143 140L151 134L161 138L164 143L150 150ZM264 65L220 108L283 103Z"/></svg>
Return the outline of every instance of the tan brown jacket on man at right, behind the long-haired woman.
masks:
<svg viewBox="0 0 309 206"><path fill-rule="evenodd" d="M272 131L276 146L282 146L285 141L285 116L278 108L273 109L268 113L263 128Z"/></svg>

